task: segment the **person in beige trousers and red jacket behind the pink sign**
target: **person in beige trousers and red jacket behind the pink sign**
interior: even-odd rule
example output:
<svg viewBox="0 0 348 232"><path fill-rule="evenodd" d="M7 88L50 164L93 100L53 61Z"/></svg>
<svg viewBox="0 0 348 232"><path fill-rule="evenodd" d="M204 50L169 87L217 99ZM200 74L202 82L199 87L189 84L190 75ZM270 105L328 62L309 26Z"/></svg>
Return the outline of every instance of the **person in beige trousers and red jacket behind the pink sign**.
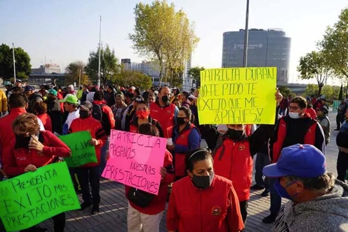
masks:
<svg viewBox="0 0 348 232"><path fill-rule="evenodd" d="M143 135L159 136L158 129L151 123L144 123L139 126L139 133ZM156 154L154 154L156 156ZM134 188L125 186L126 197L128 198L127 228L128 232L159 232L160 222L166 208L168 195L168 184L174 181L173 157L166 150L163 167L161 172L161 184L158 195L153 195L143 191L136 191ZM148 196L147 201L137 201L137 194ZM134 199L136 197L136 199Z"/></svg>

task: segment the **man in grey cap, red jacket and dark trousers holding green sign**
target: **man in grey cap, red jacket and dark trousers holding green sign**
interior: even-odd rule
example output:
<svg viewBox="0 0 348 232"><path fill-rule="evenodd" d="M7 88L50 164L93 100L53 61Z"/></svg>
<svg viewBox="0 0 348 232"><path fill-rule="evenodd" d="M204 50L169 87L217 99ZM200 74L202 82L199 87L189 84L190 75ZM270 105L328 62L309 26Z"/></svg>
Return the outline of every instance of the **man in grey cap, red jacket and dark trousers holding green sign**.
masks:
<svg viewBox="0 0 348 232"><path fill-rule="evenodd" d="M75 119L69 128L68 133L78 131L89 131L92 139L89 141L91 146L95 146L95 154L97 163L87 163L77 168L77 173L81 185L82 198L84 202L81 204L81 210L85 210L93 205L91 214L99 213L99 164L100 150L105 144L107 136L99 121L92 118L92 103L84 101L80 105L80 118ZM92 190L92 196L89 193L89 184Z"/></svg>

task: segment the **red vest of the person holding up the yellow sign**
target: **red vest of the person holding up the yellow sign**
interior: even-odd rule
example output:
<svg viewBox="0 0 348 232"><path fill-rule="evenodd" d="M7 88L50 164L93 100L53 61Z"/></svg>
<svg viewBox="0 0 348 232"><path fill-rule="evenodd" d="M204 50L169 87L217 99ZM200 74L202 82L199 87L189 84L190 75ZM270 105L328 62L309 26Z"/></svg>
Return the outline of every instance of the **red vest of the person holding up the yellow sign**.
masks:
<svg viewBox="0 0 348 232"><path fill-rule="evenodd" d="M214 172L232 181L239 201L250 198L253 158L247 139L234 142L225 138L214 155Z"/></svg>

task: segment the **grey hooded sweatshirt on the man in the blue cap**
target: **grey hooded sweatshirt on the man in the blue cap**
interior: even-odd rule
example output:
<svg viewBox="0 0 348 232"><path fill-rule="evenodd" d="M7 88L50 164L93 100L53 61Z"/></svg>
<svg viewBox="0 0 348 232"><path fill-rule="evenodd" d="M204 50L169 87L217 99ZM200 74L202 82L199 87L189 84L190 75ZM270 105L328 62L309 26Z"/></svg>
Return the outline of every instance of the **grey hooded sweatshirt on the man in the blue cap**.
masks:
<svg viewBox="0 0 348 232"><path fill-rule="evenodd" d="M280 208L274 232L348 232L348 185L336 180L332 191L311 201Z"/></svg>

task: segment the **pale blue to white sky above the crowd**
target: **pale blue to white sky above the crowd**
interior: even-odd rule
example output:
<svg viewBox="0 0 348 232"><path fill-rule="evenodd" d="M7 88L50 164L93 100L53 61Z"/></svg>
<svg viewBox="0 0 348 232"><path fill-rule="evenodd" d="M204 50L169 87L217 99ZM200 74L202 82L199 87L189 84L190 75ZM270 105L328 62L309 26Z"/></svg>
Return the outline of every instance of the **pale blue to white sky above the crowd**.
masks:
<svg viewBox="0 0 348 232"><path fill-rule="evenodd" d="M134 28L139 0L0 0L0 43L22 47L32 68L45 63L66 67L87 62L99 40L115 50L118 59L144 58L132 49L128 34ZM143 0L151 3L151 0ZM245 28L247 0L168 0L195 23L200 38L192 66L221 67L223 32ZM347 0L250 0L249 28L281 28L291 41L289 82L298 80L301 56L316 49L327 26L338 21ZM331 84L332 80L328 84ZM312 81L310 81L312 82ZM334 83L336 81L332 81Z"/></svg>

